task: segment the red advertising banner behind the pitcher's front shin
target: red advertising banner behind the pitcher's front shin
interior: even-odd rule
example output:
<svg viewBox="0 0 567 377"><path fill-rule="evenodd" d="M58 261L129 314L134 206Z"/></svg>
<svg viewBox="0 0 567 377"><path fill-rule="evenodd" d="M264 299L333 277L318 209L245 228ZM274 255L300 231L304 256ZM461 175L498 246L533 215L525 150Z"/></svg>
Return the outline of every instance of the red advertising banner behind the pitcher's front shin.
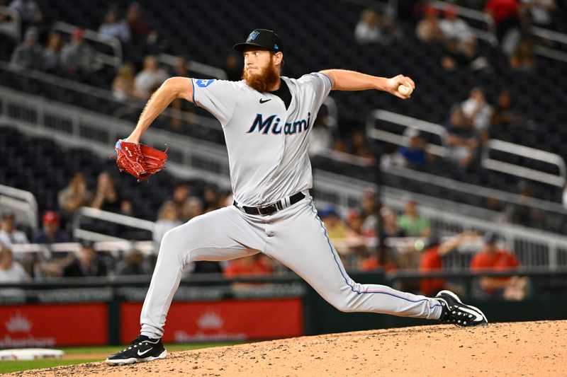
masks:
<svg viewBox="0 0 567 377"><path fill-rule="evenodd" d="M122 303L120 339L140 333L142 303ZM301 298L174 302L164 327L164 342L233 342L303 335Z"/></svg>

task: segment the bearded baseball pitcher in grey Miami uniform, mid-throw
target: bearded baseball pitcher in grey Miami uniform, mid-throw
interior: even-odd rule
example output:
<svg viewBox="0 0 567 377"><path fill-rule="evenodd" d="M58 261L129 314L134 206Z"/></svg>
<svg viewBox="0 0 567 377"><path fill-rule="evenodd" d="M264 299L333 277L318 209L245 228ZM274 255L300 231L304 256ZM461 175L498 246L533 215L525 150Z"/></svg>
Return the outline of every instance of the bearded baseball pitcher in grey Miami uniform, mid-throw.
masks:
<svg viewBox="0 0 567 377"><path fill-rule="evenodd" d="M309 194L313 186L309 137L330 91L374 89L407 99L415 88L412 79L342 69L300 79L281 76L283 42L271 30L254 30L234 48L244 57L242 81L168 79L148 101L132 134L116 144L120 169L138 179L156 173L164 156L148 153L140 139L174 99L189 100L208 110L223 127L235 201L165 234L142 307L140 335L106 362L123 365L167 356L161 341L164 323L188 263L256 253L292 269L339 311L427 318L460 326L488 323L478 308L461 303L450 291L430 298L354 282ZM402 94L400 86L412 90Z"/></svg>

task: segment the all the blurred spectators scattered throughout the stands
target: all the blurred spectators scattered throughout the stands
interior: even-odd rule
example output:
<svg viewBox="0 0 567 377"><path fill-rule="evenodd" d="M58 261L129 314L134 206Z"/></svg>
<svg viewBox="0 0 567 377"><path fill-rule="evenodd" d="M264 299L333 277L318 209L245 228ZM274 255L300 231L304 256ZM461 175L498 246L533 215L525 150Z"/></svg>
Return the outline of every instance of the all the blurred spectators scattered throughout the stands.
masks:
<svg viewBox="0 0 567 377"><path fill-rule="evenodd" d="M425 1L415 1L415 35L425 44L441 45L444 54L439 66L447 72L459 70L490 70L490 59L478 48L478 40L468 23L459 18L456 8L449 6L440 11ZM497 26L500 40L510 69L529 74L537 66L532 41L524 37L522 30L529 25L545 27L558 26L554 16L554 0L505 1L456 1L459 5L479 8L485 6ZM481 4L479 4L481 3ZM486 3L486 4L484 4ZM65 76L70 79L84 79L94 71L102 69L96 59L97 50L85 40L85 30L77 28L70 39L60 33L48 33L49 25L43 21L42 11L33 0L13 0L9 4L20 13L23 21L23 41L17 45L11 55L14 67L37 69L50 74ZM9 21L0 19L1 23ZM120 40L129 61L124 62L113 73L113 80L108 88L113 98L118 101L147 100L150 95L170 76L189 76L186 57L179 57L176 64L164 68L156 55L164 52L166 41L161 40L158 30L152 29L145 20L143 9L132 3L125 9L122 17L120 9L107 11L98 32L102 36L116 37ZM393 45L407 32L396 24L389 14L381 14L373 9L366 9L354 28L354 39L364 46L372 44ZM226 57L224 67L228 79L240 79L241 62L236 55ZM502 88L498 93L487 93L485 88L470 88L468 98L454 98L454 103L447 108L444 127L449 134L449 161L455 168L474 171L483 144L495 131L521 129L529 122L515 105L514 96ZM181 101L172 104L172 108L181 108ZM318 118L315 130L321 126L322 117ZM325 134L327 132L323 132ZM426 151L427 141L416 129L408 128L405 133L408 143L395 152L382 157L381 165L400 164L412 168L423 168L437 161ZM351 153L355 156L374 160L375 154L369 148L364 132L354 132L349 137L338 137L327 133L327 138L313 138L315 142L325 140L323 147L335 151ZM193 192L187 182L174 187L171 195L164 195L164 202L156 214L156 226L153 240L156 243L170 229L189 221L195 216L232 204L230 192L223 192L217 187L206 187L203 192ZM529 187L518 187L522 197L529 197ZM567 192L567 191L566 191ZM567 197L567 195L566 195ZM14 256L10 248L18 243L59 243L71 240L69 223L74 211L87 206L119 214L135 214L135 205L116 185L112 175L103 172L99 175L96 187L87 187L82 173L75 173L67 187L62 187L57 197L59 208L45 211L42 216L42 228L34 235L26 235L16 229L13 213L2 214L0 226L0 282L26 282L30 279L46 277L94 277L110 274L152 273L155 260L140 253L139 250L127 250L123 257L112 264L103 260L92 243L82 243L77 255L43 260L41 255L23 254ZM567 202L567 199L566 199ZM367 191L361 198L358 208L342 214L335 208L322 208L319 211L325 222L337 253L351 269L371 271L383 268L387 271L405 268L420 268L422 271L437 271L443 268L443 257L459 250L466 243L481 240L477 233L467 232L442 241L432 232L430 221L420 216L416 202L408 200L403 213L383 206L376 209L374 192ZM506 219L516 224L529 225L537 221L541 214L531 207L521 205L500 208ZM379 231L378 231L379 229ZM381 233L381 234L378 234ZM394 248L377 253L369 247L369 238L376 236L390 238L425 238L425 247L417 250L415 244ZM481 247L470 262L473 271L487 268L507 269L519 265L514 254L499 248L494 235L485 235ZM408 255L417 255L416 258ZM255 255L227 263L196 262L188 268L189 273L214 272L226 277L247 274L270 274L280 267L264 255ZM447 287L445 279L423 279L415 291L431 295L436 290ZM503 296L522 298L527 282L512 278L483 278L478 283L481 296Z"/></svg>

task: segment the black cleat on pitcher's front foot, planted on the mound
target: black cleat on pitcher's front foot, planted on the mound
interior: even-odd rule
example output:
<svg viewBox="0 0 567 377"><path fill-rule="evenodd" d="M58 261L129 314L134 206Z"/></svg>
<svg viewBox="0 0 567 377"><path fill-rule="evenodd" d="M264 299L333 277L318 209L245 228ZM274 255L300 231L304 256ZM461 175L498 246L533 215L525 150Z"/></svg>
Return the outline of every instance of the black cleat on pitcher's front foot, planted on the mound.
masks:
<svg viewBox="0 0 567 377"><path fill-rule="evenodd" d="M125 365L143 363L157 359L165 359L167 351L162 344L162 339L152 339L145 335L138 335L135 340L130 342L128 348L116 352L106 359L106 364Z"/></svg>

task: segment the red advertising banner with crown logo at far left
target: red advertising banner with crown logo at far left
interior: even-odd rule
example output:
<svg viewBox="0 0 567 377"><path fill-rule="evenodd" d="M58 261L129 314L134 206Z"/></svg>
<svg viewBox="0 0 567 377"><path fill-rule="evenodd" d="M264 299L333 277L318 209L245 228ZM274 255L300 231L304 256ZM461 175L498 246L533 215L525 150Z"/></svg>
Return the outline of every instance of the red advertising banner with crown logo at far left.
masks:
<svg viewBox="0 0 567 377"><path fill-rule="evenodd" d="M0 306L0 348L107 343L106 303Z"/></svg>

